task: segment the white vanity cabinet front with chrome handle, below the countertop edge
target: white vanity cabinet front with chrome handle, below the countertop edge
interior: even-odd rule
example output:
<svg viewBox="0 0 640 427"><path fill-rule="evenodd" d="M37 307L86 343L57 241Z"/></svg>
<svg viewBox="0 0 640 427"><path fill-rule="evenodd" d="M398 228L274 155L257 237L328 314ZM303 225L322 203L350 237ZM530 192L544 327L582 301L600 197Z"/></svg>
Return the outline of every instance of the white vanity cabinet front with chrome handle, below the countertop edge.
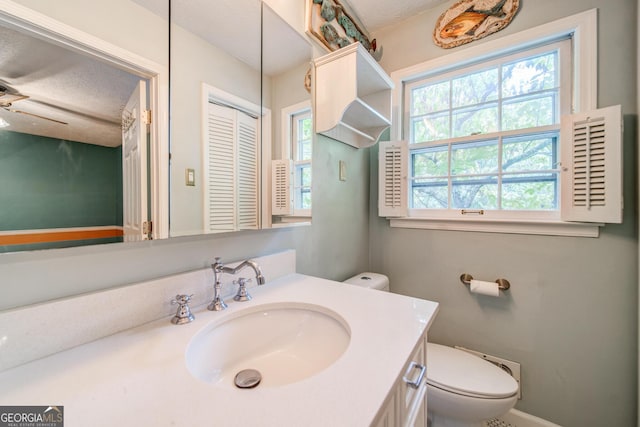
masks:
<svg viewBox="0 0 640 427"><path fill-rule="evenodd" d="M426 427L427 337L423 336L378 412L375 427Z"/></svg>

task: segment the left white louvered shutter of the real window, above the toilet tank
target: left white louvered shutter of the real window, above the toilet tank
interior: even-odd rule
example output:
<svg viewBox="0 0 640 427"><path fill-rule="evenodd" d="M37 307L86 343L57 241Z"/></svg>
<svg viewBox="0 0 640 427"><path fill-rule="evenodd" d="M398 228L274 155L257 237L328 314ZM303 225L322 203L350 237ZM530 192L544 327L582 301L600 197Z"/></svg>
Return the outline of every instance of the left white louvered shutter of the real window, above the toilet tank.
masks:
<svg viewBox="0 0 640 427"><path fill-rule="evenodd" d="M409 147L406 141L380 143L378 153L378 215L407 216L407 170Z"/></svg>

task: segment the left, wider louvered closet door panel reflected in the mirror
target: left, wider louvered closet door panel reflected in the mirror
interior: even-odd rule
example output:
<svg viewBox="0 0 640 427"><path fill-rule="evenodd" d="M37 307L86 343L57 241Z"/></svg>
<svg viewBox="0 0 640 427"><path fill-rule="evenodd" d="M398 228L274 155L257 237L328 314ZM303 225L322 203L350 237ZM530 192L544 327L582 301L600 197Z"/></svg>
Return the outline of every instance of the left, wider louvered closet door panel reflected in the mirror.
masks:
<svg viewBox="0 0 640 427"><path fill-rule="evenodd" d="M236 217L236 111L216 104L208 105L205 227L214 233L233 231Z"/></svg>

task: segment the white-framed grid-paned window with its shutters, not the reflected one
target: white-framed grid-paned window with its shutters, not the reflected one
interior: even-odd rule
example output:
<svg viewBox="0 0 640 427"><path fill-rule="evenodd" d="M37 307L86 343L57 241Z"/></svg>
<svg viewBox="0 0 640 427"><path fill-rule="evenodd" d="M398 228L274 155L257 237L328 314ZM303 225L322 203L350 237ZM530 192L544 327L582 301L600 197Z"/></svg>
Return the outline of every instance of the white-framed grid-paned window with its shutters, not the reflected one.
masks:
<svg viewBox="0 0 640 427"><path fill-rule="evenodd" d="M393 73L397 141L380 145L380 215L392 227L592 237L599 224L567 221L620 222L619 107L594 110L596 17Z"/></svg>

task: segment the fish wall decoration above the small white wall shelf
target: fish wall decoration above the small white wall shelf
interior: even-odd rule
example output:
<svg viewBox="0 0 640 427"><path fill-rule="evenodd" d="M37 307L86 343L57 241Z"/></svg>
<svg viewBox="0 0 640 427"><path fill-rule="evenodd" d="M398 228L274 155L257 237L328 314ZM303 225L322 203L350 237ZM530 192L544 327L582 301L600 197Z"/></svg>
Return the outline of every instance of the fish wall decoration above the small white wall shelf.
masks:
<svg viewBox="0 0 640 427"><path fill-rule="evenodd" d="M328 52L360 42L379 61L382 46L371 40L362 23L341 0L307 0L306 32Z"/></svg>

